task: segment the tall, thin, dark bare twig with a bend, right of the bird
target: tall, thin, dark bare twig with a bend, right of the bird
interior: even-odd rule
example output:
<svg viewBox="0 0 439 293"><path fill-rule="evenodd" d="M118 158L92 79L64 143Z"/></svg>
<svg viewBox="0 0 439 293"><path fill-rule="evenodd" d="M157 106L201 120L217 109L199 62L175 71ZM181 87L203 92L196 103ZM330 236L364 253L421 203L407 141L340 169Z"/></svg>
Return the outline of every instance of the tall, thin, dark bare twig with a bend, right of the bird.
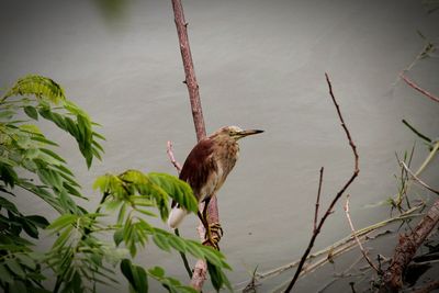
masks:
<svg viewBox="0 0 439 293"><path fill-rule="evenodd" d="M351 135L349 133L349 129L346 126L345 120L344 120L344 117L341 115L341 112L340 112L340 108L339 108L339 105L337 103L337 100L336 100L336 98L334 95L334 92L333 92L333 86L331 86L329 77L328 77L328 75L326 72L325 72L325 77L326 77L326 82L328 83L330 98L333 99L334 105L336 106L338 119L341 122L341 127L344 128L344 131L346 133L346 136L347 136L347 138L349 140L349 145L350 145L350 147L352 149L352 153L353 153L353 159L354 159L353 173L349 178L349 180L345 183L345 185L337 192L337 194L335 195L333 202L329 204L328 209L326 210L326 213L320 218L320 222L318 223L316 230L313 233L313 236L309 239L308 247L306 248L305 252L302 256L302 259L301 259L301 262L299 263L297 270L296 270L293 279L291 280L290 284L288 285L285 292L290 292L291 289L294 286L295 282L299 279L299 275L301 274L302 268L305 264L306 258L309 255L311 249L314 246L315 239L317 238L317 235L320 233L323 224L325 223L326 218L333 213L333 209L336 205L336 203L338 202L338 200L341 198L341 195L345 193L345 191L348 189L348 187L352 183L352 181L358 177L358 174L360 172L360 169L358 167L358 165L359 165L359 162L358 162L359 156L358 156L358 153L357 153L357 146L353 144L353 140L352 140L352 137L351 137Z"/></svg>

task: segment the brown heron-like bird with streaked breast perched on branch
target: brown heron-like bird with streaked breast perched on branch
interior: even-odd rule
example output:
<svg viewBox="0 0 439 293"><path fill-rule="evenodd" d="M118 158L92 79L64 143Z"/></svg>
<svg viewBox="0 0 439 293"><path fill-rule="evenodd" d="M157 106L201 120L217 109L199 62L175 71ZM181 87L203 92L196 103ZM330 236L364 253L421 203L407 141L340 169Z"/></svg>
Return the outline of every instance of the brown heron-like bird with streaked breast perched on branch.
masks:
<svg viewBox="0 0 439 293"><path fill-rule="evenodd" d="M206 219L211 198L221 189L239 157L238 140L243 137L262 133L260 129L244 131L238 126L221 127L207 137L202 138L190 151L180 172L180 180L185 181L199 203L204 202L203 213L198 213L206 230L206 241L212 241ZM172 202L168 225L175 229L183 221L188 211ZM221 227L219 227L221 229Z"/></svg>

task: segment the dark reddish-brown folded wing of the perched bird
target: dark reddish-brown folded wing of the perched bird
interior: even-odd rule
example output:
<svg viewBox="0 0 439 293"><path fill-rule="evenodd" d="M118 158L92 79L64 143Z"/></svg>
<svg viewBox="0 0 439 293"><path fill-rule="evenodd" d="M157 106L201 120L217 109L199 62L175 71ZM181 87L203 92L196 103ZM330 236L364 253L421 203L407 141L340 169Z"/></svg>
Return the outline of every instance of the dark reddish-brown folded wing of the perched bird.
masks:
<svg viewBox="0 0 439 293"><path fill-rule="evenodd" d="M217 171L213 158L213 142L209 138L200 140L189 154L180 172L180 179L187 181L196 199L200 201L206 194L200 194L206 184L209 176ZM172 203L172 206L176 204Z"/></svg>

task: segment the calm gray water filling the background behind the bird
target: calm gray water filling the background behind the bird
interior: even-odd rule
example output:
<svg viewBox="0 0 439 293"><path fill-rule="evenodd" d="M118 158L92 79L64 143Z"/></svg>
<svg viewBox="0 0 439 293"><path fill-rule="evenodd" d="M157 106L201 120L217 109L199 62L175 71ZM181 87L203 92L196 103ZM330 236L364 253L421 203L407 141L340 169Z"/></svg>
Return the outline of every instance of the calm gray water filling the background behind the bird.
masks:
<svg viewBox="0 0 439 293"><path fill-rule="evenodd" d="M97 176L127 168L176 173L167 140L180 162L195 144L170 1L126 1L115 19L99 3L3 0L0 18L0 87L31 72L50 77L103 125L103 161L90 170L72 139L47 127L89 194L90 209L100 199L91 190ZM241 142L240 159L218 195L230 281L247 280L257 266L266 271L300 258L312 233L319 168L325 167L323 205L352 173L325 72L360 154L360 177L349 189L354 225L386 218L389 207L367 205L397 189L394 154L416 140L401 120L438 135L439 104L397 76L423 49L417 30L437 37L439 14L427 14L418 1L188 0L183 5L207 132L224 125L266 131ZM438 58L420 60L408 76L439 93L438 68ZM426 154L418 144L413 166ZM438 182L437 161L423 179ZM19 204L56 216L27 194ZM196 238L196 225L194 216L188 218L182 234ZM315 249L349 233L338 204ZM381 247L390 253L394 243L391 237ZM148 247L137 262L164 266L185 280L177 255ZM316 291L333 272L328 267L302 280L297 292ZM344 285L337 290L348 290Z"/></svg>

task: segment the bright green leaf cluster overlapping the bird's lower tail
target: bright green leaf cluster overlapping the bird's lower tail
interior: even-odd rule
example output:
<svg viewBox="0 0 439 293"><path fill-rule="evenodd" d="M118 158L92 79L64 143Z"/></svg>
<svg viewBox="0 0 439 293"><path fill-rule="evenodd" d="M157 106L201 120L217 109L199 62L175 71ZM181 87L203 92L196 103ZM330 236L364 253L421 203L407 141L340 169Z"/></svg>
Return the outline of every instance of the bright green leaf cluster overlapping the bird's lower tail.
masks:
<svg viewBox="0 0 439 293"><path fill-rule="evenodd" d="M196 213L198 202L187 182L166 173L143 173L137 170L127 170L119 176L105 174L98 178L94 188L100 189L104 194L103 205L106 210L119 209L116 230L113 235L116 246L124 244L132 257L135 257L139 247L144 247L153 240L164 251L176 250L181 253L189 253L194 258L204 259L210 264L211 279L215 289L223 285L229 288L229 282L222 269L230 268L221 252L198 241L183 239L167 230L154 227L145 219L145 216L157 216L153 212L154 209L157 209L160 218L166 221L169 214L169 199L178 202L184 210ZM139 270L143 269L135 266L130 267L126 261L121 269L130 281L132 290L138 288L140 281L135 279L134 275L139 274ZM131 274L128 269L132 270ZM157 278L161 274L154 274L156 271L162 271L161 268L159 269L142 271L140 274L145 275L145 279L149 275L158 280L170 292L179 292L178 289L172 289L178 285L172 281L173 279Z"/></svg>

